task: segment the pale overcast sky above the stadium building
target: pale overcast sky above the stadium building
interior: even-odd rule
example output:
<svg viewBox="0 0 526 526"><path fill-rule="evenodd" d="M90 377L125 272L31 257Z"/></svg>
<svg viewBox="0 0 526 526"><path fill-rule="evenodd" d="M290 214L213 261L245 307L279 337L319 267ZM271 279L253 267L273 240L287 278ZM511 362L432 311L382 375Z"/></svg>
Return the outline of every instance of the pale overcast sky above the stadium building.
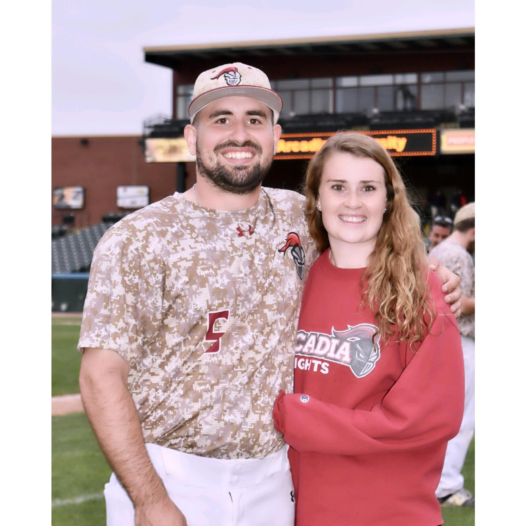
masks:
<svg viewBox="0 0 526 526"><path fill-rule="evenodd" d="M219 6L220 4L220 6ZM140 134L171 114L143 47L474 26L474 0L53 0L53 135ZM264 8L261 8L264 5Z"/></svg>

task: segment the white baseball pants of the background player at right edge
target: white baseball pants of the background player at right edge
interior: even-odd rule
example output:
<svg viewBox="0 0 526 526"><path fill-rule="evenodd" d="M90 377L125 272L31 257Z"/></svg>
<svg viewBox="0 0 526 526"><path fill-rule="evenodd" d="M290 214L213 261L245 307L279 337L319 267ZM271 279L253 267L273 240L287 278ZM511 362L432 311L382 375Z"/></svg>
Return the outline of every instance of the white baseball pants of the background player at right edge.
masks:
<svg viewBox="0 0 526 526"><path fill-rule="evenodd" d="M462 340L466 377L464 416L458 435L448 442L442 475L435 492L439 499L464 487L464 477L461 471L475 432L475 340L467 336L461 336L460 339Z"/></svg>

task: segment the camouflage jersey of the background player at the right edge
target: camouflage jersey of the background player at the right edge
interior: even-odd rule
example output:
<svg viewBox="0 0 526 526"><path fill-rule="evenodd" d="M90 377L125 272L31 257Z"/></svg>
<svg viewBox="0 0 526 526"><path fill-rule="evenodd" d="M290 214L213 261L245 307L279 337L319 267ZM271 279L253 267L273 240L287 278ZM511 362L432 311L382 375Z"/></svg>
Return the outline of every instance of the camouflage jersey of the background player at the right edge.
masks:
<svg viewBox="0 0 526 526"><path fill-rule="evenodd" d="M437 258L442 265L448 267L460 278L460 290L468 298L475 297L475 265L469 252L459 245L444 239L431 252L430 258ZM457 319L462 336L475 337L475 313L460 316Z"/></svg>

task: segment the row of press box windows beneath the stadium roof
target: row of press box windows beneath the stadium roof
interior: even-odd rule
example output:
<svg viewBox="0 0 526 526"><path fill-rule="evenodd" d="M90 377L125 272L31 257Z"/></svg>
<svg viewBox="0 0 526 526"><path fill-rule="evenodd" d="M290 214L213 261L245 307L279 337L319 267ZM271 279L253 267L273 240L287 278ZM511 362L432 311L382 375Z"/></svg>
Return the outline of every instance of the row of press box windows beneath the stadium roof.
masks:
<svg viewBox="0 0 526 526"><path fill-rule="evenodd" d="M403 112L475 106L474 70L272 80L283 117L330 113ZM177 86L177 118L188 118L193 85Z"/></svg>

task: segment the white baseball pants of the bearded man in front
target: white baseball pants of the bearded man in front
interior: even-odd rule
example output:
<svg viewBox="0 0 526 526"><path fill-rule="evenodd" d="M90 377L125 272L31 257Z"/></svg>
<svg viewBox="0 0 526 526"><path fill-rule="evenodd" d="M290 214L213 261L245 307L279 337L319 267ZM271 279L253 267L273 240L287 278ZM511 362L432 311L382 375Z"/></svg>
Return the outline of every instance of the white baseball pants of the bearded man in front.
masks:
<svg viewBox="0 0 526 526"><path fill-rule="evenodd" d="M287 447L264 459L220 460L146 444L188 526L294 526ZM107 526L134 526L134 507L115 473L105 485Z"/></svg>

